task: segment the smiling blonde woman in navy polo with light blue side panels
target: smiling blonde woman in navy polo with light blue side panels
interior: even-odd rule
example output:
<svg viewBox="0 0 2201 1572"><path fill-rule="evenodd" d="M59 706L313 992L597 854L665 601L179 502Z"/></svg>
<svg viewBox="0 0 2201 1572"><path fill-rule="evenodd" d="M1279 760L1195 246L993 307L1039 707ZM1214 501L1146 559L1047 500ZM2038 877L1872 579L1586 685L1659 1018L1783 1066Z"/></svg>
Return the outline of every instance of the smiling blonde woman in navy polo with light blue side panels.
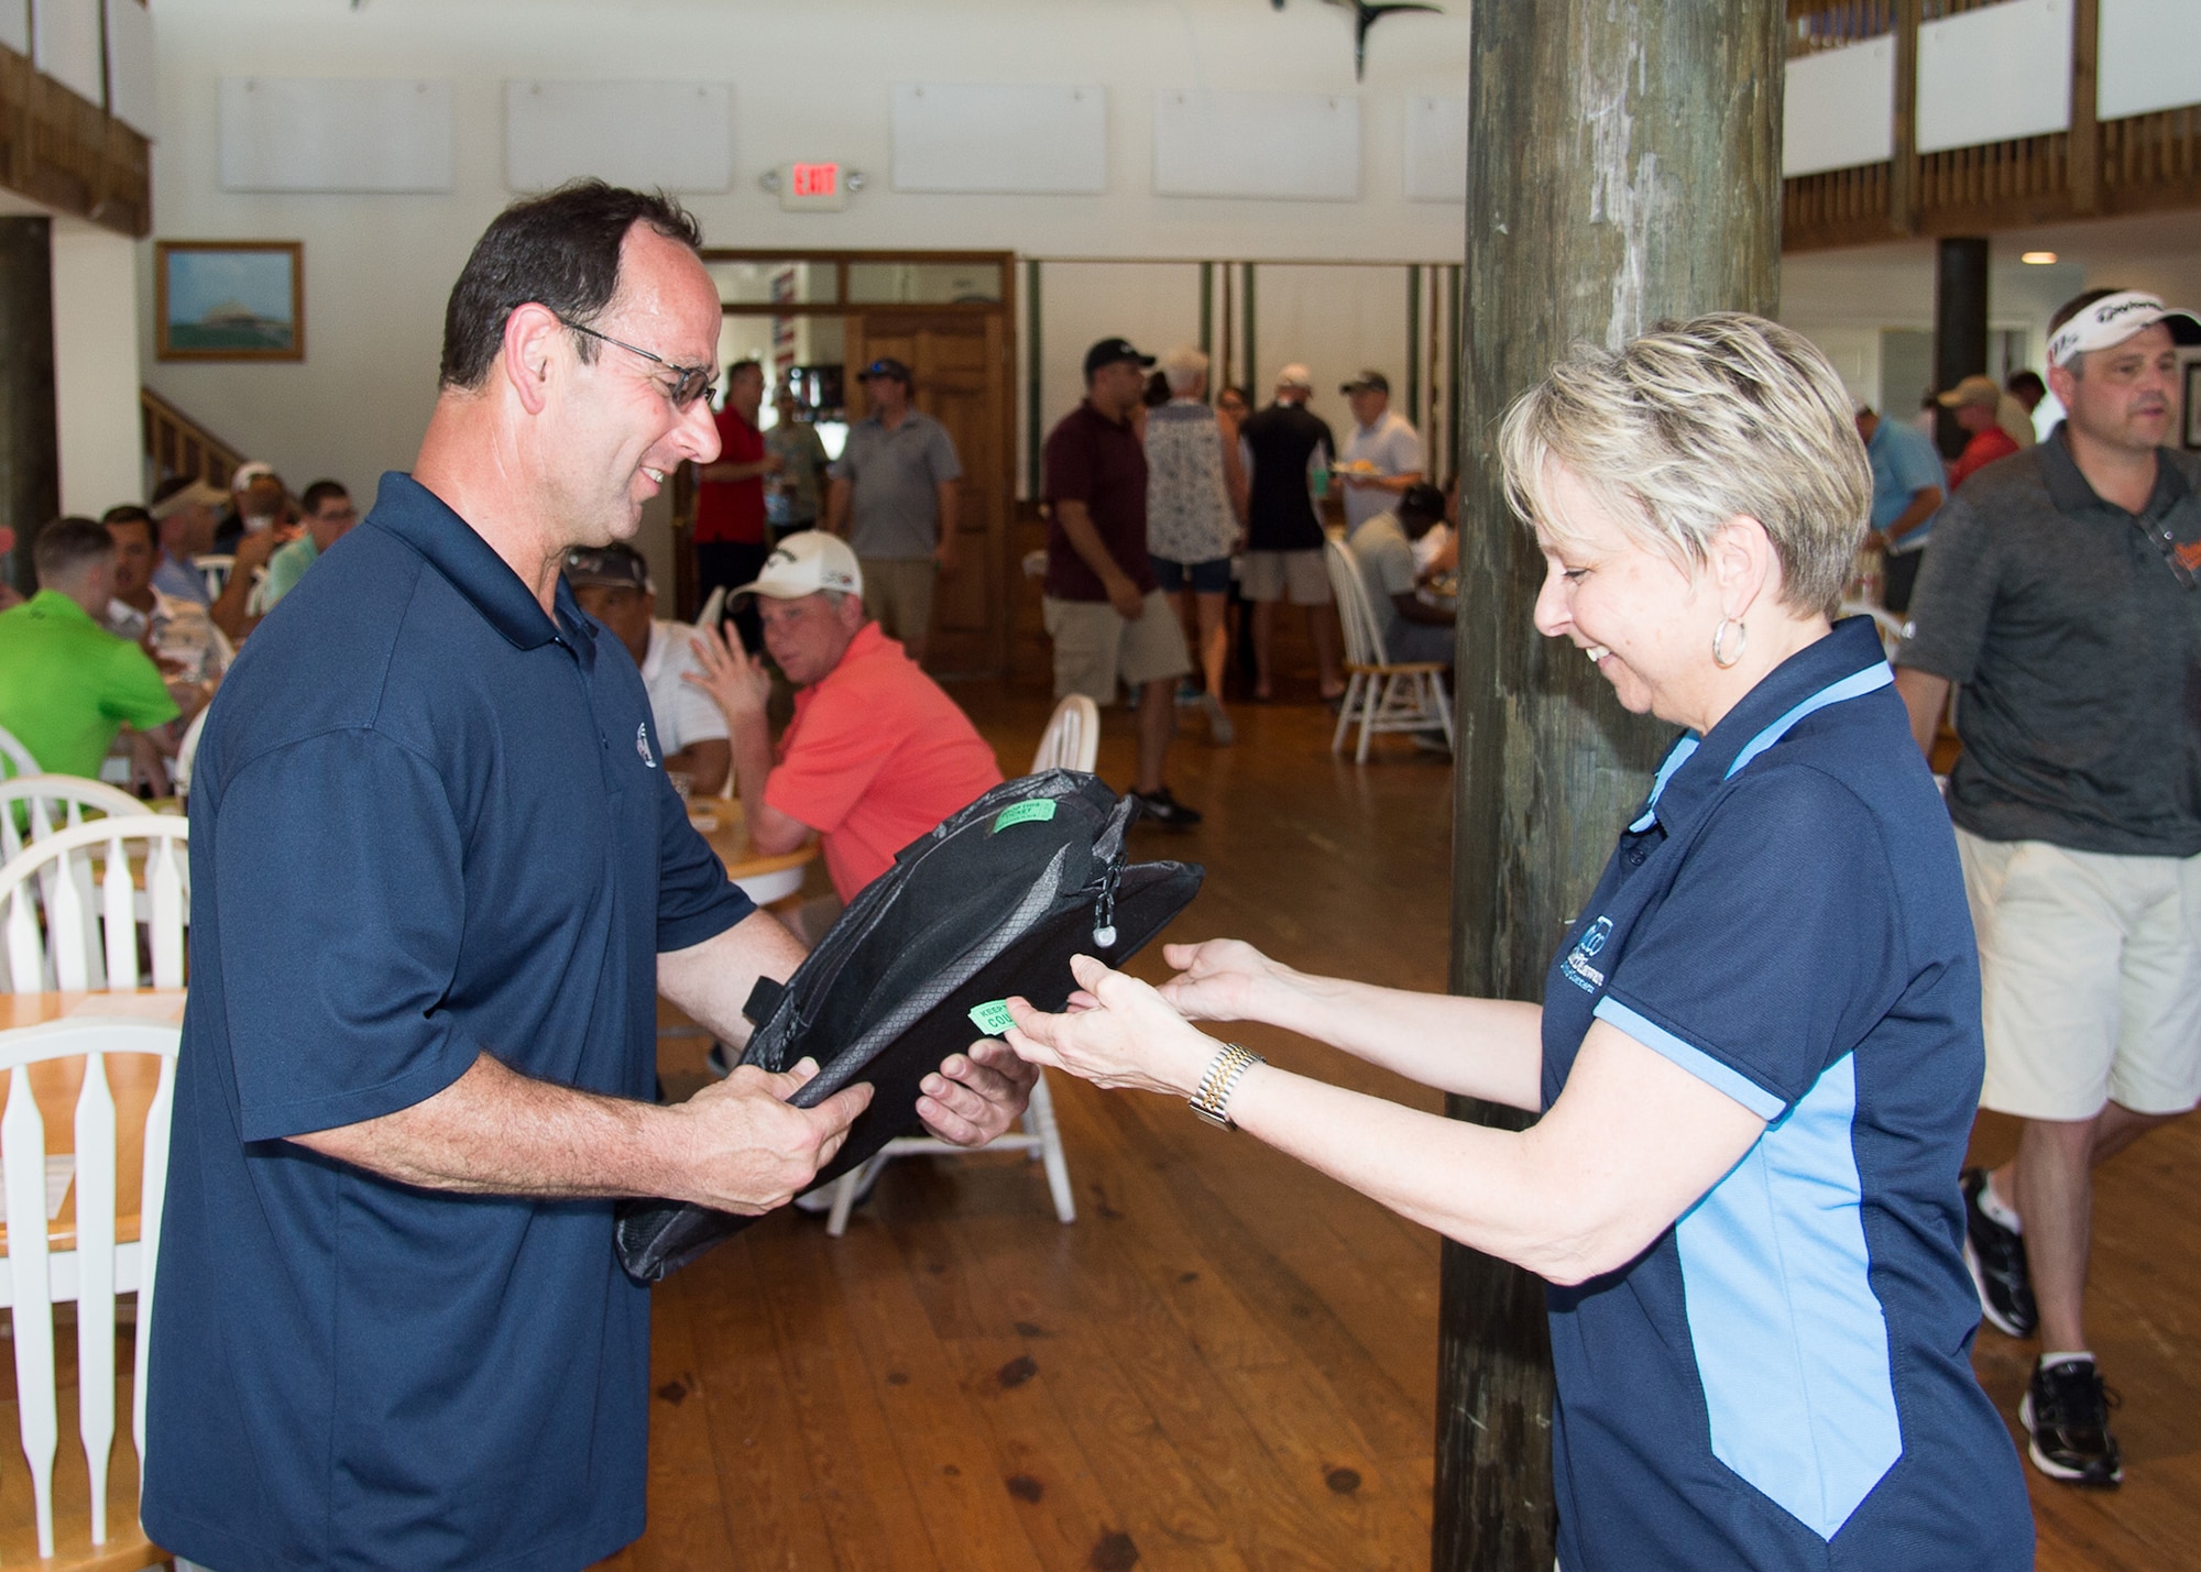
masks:
<svg viewBox="0 0 2201 1572"><path fill-rule="evenodd" d="M1550 1281L1567 1572L2034 1565L1970 1358L1957 1171L1985 1048L1957 839L1873 623L1831 621L1873 495L1849 410L1809 341L1721 313L1580 346L1508 412L1550 658L1682 729L1543 1004L1237 940L1167 945L1160 989L1078 956L1063 1015L1008 1002L1032 1063L1189 1096ZM1534 1123L1327 1085L1195 1019Z"/></svg>

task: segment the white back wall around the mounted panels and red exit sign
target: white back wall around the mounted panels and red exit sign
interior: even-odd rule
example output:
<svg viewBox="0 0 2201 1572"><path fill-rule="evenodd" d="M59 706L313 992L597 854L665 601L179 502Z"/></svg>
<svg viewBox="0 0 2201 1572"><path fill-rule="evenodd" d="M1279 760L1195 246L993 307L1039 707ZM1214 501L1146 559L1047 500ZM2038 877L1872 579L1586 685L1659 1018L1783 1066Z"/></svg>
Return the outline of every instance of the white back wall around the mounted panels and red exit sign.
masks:
<svg viewBox="0 0 2201 1572"><path fill-rule="evenodd" d="M508 77L733 84L735 187L687 198L713 244L1008 249L1085 258L1457 260L1461 207L1404 198L1413 95L1466 81L1466 0L1376 29L1354 84L1351 13L1299 0L156 0L163 238L306 242L297 365L158 365L147 381L297 484L370 489L412 462L434 403L442 302L504 189ZM225 75L453 84L456 181L425 196L220 189ZM1103 196L940 196L889 183L896 81L1100 81ZM1160 88L1362 101L1358 203L1151 194ZM872 176L843 214L781 214L757 176L839 159ZM152 299L150 247L143 299ZM1197 304L1195 304L1197 308ZM145 313L150 317L150 310ZM1268 332L1263 330L1263 341ZM1279 343L1281 348L1281 343ZM1266 354L1268 350L1263 350Z"/></svg>

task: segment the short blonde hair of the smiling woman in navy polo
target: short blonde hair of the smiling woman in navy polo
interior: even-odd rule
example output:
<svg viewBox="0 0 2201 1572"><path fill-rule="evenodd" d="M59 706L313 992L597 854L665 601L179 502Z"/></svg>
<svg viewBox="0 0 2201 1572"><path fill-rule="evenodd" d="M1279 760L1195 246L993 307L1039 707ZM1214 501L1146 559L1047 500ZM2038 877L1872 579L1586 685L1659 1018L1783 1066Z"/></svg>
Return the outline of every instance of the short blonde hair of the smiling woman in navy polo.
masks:
<svg viewBox="0 0 2201 1572"><path fill-rule="evenodd" d="M1567 537L1552 502L1565 467L1646 544L1684 568L1748 515L1781 557L1781 599L1833 616L1873 509L1873 471L1818 346L1721 310L1660 324L1618 354L1578 343L1505 412L1505 500Z"/></svg>

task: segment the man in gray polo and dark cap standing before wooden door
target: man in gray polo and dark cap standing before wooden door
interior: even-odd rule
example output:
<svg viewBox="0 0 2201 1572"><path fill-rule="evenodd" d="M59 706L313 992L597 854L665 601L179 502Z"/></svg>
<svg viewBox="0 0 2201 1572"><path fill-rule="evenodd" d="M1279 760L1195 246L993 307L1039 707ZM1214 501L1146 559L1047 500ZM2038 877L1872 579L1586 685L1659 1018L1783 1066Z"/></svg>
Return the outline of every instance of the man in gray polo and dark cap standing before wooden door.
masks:
<svg viewBox="0 0 2201 1572"><path fill-rule="evenodd" d="M909 403L907 365L872 361L863 368L863 394L872 414L850 429L832 467L825 531L847 535L856 548L865 614L922 663L933 579L955 577L962 462L946 427Z"/></svg>

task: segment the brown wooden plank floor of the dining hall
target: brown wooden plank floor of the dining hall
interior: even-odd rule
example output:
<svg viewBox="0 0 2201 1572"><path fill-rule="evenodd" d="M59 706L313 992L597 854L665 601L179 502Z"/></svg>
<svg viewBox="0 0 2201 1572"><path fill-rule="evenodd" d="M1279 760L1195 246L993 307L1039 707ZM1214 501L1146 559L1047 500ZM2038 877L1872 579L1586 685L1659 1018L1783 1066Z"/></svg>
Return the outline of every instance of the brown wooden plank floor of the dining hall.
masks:
<svg viewBox="0 0 2201 1572"><path fill-rule="evenodd" d="M957 685L1004 764L1043 696ZM1314 705L1197 720L1171 757L1206 823L1142 832L1204 861L1173 936L1233 934L1323 971L1437 989L1446 971L1450 775L1378 740L1327 753ZM1129 777L1127 716L1100 773ZM1138 967L1160 973L1151 951ZM1417 1107L1437 1099L1285 1033L1248 1046ZM700 1041L667 1039L674 1094ZM649 1535L605 1563L687 1568L1424 1568L1437 1240L1226 1136L1182 1105L1054 1081L1078 1196L1061 1226L1037 1165L918 1158L843 1240L784 1213L656 1292ZM2032 1477L2049 1572L2201 1565L2201 1218L2194 1127L2102 1173L2095 1347L2126 1407L2128 1484ZM1979 1149L2012 1132L1985 1121ZM1981 1332L2016 1411L2029 1352Z"/></svg>

